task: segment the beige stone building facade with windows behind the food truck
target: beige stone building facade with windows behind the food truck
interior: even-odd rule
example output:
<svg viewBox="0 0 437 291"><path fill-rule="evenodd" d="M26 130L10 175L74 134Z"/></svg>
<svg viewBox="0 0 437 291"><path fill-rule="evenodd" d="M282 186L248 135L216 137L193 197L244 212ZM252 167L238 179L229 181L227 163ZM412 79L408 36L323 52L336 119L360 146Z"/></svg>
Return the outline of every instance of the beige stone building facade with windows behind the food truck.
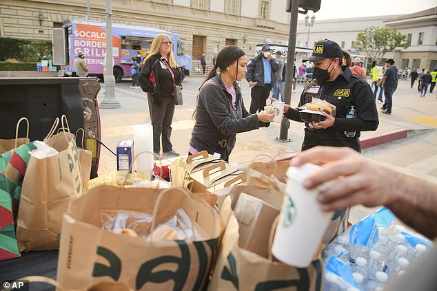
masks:
<svg viewBox="0 0 437 291"><path fill-rule="evenodd" d="M88 14L88 3L90 11ZM179 34L187 54L210 62L221 47L240 46L254 56L260 43L288 40L286 0L112 0L115 23ZM51 39L66 20L105 21L105 0L0 0L0 36Z"/></svg>

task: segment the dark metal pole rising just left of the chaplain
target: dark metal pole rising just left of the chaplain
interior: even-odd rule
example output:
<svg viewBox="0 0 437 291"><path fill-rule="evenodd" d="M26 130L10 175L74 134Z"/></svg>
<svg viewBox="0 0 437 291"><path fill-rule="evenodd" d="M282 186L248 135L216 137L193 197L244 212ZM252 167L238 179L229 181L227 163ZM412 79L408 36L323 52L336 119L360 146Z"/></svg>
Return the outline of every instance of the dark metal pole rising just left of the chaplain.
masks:
<svg viewBox="0 0 437 291"><path fill-rule="evenodd" d="M289 21L288 51L287 51L287 71L285 72L285 104L290 105L292 101L294 53L296 52L296 30L298 17L299 1L292 1ZM280 142L291 142L288 138L289 120L283 117L281 121L281 131L279 131Z"/></svg>

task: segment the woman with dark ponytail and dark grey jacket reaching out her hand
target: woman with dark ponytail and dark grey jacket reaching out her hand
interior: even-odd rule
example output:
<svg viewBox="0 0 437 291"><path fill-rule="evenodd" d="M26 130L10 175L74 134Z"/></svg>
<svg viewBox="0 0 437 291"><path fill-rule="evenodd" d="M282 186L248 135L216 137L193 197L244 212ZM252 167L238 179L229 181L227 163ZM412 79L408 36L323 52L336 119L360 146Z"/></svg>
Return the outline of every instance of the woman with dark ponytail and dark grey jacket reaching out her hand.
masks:
<svg viewBox="0 0 437 291"><path fill-rule="evenodd" d="M220 73L217 74L217 69ZM217 54L216 65L207 75L197 97L196 123L189 154L206 150L228 161L236 142L236 133L268 127L274 111L249 114L245 109L238 81L247 72L247 56L236 45L227 45Z"/></svg>

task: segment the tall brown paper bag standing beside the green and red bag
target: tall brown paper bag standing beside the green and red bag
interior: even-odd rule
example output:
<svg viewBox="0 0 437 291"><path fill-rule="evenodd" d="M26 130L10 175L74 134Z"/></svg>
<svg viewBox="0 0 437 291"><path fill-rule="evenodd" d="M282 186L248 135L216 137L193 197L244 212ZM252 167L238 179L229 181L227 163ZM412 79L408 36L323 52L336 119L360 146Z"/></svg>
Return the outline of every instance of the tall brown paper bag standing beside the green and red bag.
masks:
<svg viewBox="0 0 437 291"><path fill-rule="evenodd" d="M62 215L73 198L83 195L81 163L74 136L61 132L45 143L59 153L42 159L30 157L17 221L21 251L59 248Z"/></svg>

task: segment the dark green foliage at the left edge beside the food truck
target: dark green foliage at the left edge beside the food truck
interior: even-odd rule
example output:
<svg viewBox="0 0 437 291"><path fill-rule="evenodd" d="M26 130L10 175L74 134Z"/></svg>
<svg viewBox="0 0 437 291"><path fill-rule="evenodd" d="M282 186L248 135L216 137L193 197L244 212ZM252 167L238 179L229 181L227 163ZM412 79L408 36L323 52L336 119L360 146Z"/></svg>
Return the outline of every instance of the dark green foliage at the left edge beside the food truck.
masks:
<svg viewBox="0 0 437 291"><path fill-rule="evenodd" d="M23 62L50 59L52 58L52 42L0 37L0 61L8 58Z"/></svg>

